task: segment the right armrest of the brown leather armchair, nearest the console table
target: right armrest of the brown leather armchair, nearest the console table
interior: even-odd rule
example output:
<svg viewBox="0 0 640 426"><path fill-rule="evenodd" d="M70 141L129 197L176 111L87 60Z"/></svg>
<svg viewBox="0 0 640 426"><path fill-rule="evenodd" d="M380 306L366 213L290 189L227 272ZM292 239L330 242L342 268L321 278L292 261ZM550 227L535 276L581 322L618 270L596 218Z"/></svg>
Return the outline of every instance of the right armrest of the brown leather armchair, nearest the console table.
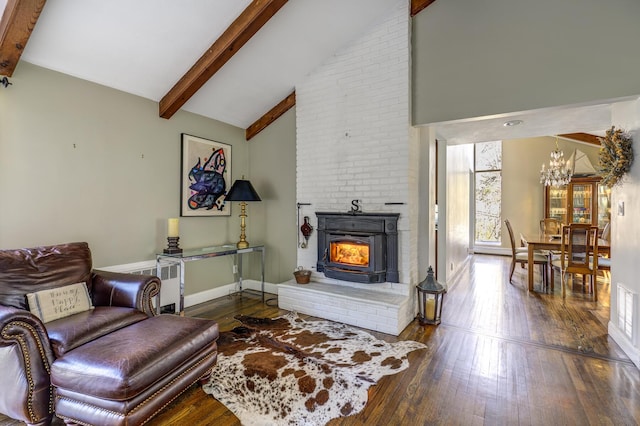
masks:
<svg viewBox="0 0 640 426"><path fill-rule="evenodd" d="M96 306L136 308L156 315L153 298L160 293L160 278L153 275L93 270L92 295Z"/></svg>

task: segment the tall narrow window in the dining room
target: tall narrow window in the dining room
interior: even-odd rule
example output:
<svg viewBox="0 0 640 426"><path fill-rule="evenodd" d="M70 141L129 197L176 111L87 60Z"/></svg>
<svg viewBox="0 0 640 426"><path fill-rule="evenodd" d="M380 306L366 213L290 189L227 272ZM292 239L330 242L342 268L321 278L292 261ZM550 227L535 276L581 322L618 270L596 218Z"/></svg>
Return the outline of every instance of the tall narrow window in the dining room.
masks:
<svg viewBox="0 0 640 426"><path fill-rule="evenodd" d="M502 141L475 144L475 240L499 243L501 237Z"/></svg>

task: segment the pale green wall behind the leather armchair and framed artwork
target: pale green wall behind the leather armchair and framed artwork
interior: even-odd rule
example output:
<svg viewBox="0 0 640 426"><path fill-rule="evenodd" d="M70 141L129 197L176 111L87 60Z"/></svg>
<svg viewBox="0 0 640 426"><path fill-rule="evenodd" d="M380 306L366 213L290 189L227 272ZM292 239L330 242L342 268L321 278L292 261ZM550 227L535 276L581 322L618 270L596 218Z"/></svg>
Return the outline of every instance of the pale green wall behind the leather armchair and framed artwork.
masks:
<svg viewBox="0 0 640 426"><path fill-rule="evenodd" d="M156 102L25 62L11 81L0 90L1 248L87 241L96 267L154 259L180 214L182 132L231 144L234 177L248 171L237 127L186 112L165 120ZM238 223L181 218L181 246L232 240ZM232 282L230 262L186 293Z"/></svg>

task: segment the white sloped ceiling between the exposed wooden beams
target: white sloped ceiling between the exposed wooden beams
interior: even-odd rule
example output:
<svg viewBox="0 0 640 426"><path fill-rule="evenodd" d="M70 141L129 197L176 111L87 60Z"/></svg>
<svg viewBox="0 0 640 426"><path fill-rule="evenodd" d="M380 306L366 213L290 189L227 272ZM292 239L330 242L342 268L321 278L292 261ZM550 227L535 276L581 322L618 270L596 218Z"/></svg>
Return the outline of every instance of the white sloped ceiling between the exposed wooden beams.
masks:
<svg viewBox="0 0 640 426"><path fill-rule="evenodd" d="M289 1L182 109L247 128L398 1ZM160 101L249 3L48 1L21 59Z"/></svg>

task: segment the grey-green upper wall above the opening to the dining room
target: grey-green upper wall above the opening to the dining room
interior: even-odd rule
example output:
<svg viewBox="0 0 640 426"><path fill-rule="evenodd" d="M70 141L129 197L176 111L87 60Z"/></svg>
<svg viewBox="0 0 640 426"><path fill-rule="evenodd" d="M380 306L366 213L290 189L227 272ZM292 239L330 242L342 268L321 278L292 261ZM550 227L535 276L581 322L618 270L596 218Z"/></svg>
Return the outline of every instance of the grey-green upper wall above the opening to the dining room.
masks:
<svg viewBox="0 0 640 426"><path fill-rule="evenodd" d="M413 123L640 94L638 22L634 0L434 2L413 19Z"/></svg>

